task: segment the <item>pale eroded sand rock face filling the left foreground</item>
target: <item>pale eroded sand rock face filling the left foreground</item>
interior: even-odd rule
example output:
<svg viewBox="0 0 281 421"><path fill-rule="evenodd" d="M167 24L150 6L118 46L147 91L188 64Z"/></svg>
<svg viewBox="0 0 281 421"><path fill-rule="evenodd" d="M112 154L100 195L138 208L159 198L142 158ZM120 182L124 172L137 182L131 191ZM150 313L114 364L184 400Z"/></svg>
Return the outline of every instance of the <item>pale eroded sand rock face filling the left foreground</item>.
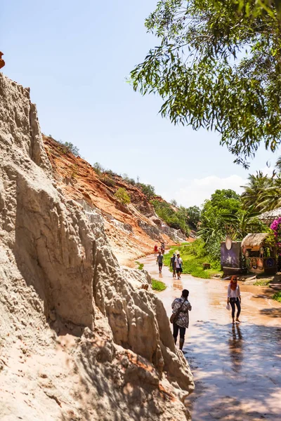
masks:
<svg viewBox="0 0 281 421"><path fill-rule="evenodd" d="M55 188L29 90L0 74L0 98L0 420L188 419L192 375L149 276Z"/></svg>

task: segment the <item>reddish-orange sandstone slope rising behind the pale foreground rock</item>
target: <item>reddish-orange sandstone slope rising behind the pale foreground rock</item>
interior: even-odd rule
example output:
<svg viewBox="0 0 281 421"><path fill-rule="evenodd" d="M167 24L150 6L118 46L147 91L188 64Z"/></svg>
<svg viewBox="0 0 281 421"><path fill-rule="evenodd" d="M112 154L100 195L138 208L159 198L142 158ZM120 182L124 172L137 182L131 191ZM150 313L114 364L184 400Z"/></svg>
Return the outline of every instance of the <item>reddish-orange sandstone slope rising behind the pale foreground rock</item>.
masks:
<svg viewBox="0 0 281 421"><path fill-rule="evenodd" d="M58 186L67 197L86 201L103 216L107 239L120 263L128 265L130 260L152 253L155 243L174 245L185 241L181 231L168 227L157 217L136 185L117 174L98 175L88 162L50 136L43 136L43 140ZM107 185L108 181L112 185ZM129 205L124 206L115 198L119 187L129 192Z"/></svg>

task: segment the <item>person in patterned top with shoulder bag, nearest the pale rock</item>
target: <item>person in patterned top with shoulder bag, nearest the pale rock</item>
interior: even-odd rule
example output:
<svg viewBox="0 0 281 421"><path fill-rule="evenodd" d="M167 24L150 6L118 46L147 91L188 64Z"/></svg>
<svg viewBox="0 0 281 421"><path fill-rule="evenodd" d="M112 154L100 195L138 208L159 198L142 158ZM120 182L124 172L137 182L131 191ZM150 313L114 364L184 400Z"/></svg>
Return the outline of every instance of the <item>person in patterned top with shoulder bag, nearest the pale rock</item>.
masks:
<svg viewBox="0 0 281 421"><path fill-rule="evenodd" d="M188 290L183 290L181 293L181 298L176 298L172 302L171 308L173 309L173 314L171 315L170 321L173 323L173 336L176 344L178 338L178 330L180 331L180 349L183 349L183 344L185 340L185 331L189 326L189 312L191 312L191 305L188 301Z"/></svg>

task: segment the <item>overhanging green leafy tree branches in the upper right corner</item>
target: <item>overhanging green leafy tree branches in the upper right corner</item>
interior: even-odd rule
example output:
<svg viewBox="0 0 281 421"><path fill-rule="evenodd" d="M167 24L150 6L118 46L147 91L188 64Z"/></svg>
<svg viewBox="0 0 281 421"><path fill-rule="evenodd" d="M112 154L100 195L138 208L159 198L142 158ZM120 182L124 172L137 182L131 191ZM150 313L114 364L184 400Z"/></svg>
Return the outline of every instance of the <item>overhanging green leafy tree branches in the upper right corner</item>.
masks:
<svg viewBox="0 0 281 421"><path fill-rule="evenodd" d="M248 166L281 133L280 0L160 0L146 20L161 41L131 72L133 88L158 93L162 116L221 133Z"/></svg>

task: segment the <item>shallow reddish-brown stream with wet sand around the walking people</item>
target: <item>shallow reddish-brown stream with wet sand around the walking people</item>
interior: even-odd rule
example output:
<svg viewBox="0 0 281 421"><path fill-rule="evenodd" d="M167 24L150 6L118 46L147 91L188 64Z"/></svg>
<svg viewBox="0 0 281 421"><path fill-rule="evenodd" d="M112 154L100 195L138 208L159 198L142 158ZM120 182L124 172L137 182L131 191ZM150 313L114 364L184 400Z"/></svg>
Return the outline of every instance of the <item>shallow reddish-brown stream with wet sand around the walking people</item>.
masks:
<svg viewBox="0 0 281 421"><path fill-rule="evenodd" d="M242 323L233 326L226 309L228 281L190 275L173 280L167 267L159 275L155 260L153 255L139 261L166 283L158 295L168 316L181 290L190 291L183 352L195 379L195 392L185 401L192 420L280 421L281 303L268 299L268 287L240 282Z"/></svg>

